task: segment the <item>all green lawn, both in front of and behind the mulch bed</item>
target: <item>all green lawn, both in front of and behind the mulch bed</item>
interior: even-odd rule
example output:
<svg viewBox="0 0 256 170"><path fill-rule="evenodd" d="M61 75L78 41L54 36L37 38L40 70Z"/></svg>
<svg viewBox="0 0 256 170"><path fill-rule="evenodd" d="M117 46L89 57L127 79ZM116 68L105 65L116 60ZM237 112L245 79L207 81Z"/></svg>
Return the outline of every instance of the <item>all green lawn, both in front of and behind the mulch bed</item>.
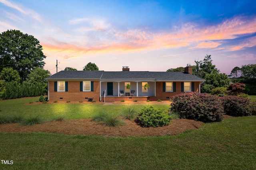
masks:
<svg viewBox="0 0 256 170"><path fill-rule="evenodd" d="M70 113L66 116L73 119L91 117L100 109L118 112L124 107L23 105L34 100L37 99L2 101L0 113L12 114L21 110L26 115L42 114L44 119ZM55 107L58 111L51 113ZM137 109L139 107L142 106L136 105ZM163 137L0 132L0 160L13 160L12 165L0 163L0 169L256 169L256 117L234 117L221 123L204 123L200 129Z"/></svg>

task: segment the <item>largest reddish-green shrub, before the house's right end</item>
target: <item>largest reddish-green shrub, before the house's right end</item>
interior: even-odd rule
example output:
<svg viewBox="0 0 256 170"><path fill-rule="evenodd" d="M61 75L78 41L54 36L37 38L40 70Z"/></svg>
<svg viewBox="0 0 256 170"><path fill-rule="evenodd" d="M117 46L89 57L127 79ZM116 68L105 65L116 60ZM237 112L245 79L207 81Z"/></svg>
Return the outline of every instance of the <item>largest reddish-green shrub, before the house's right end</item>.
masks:
<svg viewBox="0 0 256 170"><path fill-rule="evenodd" d="M223 106L218 96L200 93L182 93L172 97L171 112L180 117L203 122L222 121Z"/></svg>

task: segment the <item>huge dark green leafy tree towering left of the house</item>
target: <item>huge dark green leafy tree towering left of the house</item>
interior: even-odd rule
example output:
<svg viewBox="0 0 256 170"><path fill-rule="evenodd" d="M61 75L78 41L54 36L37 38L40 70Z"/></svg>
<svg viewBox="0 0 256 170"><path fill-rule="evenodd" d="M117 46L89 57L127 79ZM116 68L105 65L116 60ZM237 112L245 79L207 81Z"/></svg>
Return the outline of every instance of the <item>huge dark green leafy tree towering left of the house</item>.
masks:
<svg viewBox="0 0 256 170"><path fill-rule="evenodd" d="M42 46L32 35L18 30L0 34L0 71L4 67L11 67L18 71L21 81L24 81L33 68L44 66L45 58Z"/></svg>

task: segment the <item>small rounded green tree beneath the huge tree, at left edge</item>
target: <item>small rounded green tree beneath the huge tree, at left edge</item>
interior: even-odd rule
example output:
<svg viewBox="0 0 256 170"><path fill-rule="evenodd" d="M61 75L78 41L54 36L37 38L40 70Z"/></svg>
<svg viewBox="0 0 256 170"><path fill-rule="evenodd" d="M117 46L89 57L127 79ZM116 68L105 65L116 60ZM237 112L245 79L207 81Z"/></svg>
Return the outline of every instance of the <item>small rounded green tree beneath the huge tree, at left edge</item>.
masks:
<svg viewBox="0 0 256 170"><path fill-rule="evenodd" d="M12 68L4 68L0 72L0 80L4 80L5 82L20 83L20 75L16 70L13 70Z"/></svg>

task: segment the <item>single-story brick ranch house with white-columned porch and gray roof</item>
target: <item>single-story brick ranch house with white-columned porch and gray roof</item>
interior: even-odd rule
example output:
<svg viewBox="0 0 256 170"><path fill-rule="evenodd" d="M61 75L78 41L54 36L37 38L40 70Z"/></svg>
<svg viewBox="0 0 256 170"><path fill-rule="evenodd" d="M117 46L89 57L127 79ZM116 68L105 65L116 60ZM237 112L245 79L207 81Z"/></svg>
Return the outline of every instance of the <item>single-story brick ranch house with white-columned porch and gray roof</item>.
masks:
<svg viewBox="0 0 256 170"><path fill-rule="evenodd" d="M46 78L50 101L146 101L170 100L183 92L199 92L205 80L185 72L130 71L60 71Z"/></svg>

